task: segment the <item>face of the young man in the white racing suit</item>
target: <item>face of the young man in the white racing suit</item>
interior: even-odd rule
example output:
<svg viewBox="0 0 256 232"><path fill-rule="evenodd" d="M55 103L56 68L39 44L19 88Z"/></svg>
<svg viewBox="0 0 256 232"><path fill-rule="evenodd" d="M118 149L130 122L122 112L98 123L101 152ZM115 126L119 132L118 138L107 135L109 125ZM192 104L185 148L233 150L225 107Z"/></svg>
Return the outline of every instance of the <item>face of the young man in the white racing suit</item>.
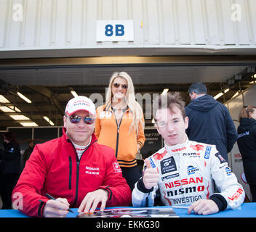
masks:
<svg viewBox="0 0 256 232"><path fill-rule="evenodd" d="M187 138L185 134L187 128L188 117L184 120L178 107L173 107L173 112L167 108L156 111L156 129L168 146L183 144Z"/></svg>

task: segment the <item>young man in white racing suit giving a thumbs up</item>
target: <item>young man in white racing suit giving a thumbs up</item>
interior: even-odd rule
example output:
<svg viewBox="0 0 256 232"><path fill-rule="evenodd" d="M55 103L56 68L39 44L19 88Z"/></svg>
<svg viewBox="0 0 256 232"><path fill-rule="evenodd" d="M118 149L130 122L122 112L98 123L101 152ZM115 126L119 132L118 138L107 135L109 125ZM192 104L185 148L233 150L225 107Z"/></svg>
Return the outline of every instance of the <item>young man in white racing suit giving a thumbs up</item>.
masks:
<svg viewBox="0 0 256 232"><path fill-rule="evenodd" d="M154 101L153 117L164 147L145 159L143 177L132 191L133 206L153 206L159 189L164 205L190 205L188 214L209 215L239 207L244 189L215 145L188 140L184 105L178 93ZM214 182L220 193L214 192Z"/></svg>

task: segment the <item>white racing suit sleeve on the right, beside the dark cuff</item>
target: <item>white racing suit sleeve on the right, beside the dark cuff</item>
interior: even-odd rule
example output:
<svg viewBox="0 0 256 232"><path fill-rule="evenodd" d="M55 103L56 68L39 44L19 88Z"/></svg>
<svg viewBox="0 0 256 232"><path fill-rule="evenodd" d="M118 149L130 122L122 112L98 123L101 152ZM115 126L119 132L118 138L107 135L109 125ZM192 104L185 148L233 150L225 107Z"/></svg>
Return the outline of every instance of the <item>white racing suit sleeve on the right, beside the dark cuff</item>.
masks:
<svg viewBox="0 0 256 232"><path fill-rule="evenodd" d="M244 202L245 193L243 187L238 183L236 175L228 167L228 162L223 159L215 146L212 146L210 159L212 178L220 191L220 193L216 194L220 194L225 198L227 202L226 209L236 209Z"/></svg>

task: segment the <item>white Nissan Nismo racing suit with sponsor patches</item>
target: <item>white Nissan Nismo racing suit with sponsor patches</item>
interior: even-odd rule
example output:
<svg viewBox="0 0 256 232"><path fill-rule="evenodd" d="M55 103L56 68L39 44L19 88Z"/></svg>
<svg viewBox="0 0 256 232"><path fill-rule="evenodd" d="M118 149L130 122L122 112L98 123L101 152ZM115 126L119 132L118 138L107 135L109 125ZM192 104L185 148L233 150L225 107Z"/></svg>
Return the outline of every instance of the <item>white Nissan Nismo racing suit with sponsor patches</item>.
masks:
<svg viewBox="0 0 256 232"><path fill-rule="evenodd" d="M187 139L184 144L165 145L149 160L158 169L158 186L148 190L140 178L132 191L135 207L153 206L158 189L161 202L168 206L212 199L221 211L244 202L244 189L214 145ZM220 193L215 193L214 182Z"/></svg>

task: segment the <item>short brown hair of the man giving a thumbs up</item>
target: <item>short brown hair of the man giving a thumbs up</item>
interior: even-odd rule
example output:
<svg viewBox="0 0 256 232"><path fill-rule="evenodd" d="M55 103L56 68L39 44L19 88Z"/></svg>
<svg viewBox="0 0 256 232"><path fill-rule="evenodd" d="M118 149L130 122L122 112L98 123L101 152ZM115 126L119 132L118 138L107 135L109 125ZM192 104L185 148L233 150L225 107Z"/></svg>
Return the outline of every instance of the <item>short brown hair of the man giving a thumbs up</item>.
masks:
<svg viewBox="0 0 256 232"><path fill-rule="evenodd" d="M185 119L185 101L181 98L180 93L167 93L157 96L153 101L153 118L156 120L156 111L162 108L169 109L172 113L175 113L173 107L180 109L181 115Z"/></svg>

